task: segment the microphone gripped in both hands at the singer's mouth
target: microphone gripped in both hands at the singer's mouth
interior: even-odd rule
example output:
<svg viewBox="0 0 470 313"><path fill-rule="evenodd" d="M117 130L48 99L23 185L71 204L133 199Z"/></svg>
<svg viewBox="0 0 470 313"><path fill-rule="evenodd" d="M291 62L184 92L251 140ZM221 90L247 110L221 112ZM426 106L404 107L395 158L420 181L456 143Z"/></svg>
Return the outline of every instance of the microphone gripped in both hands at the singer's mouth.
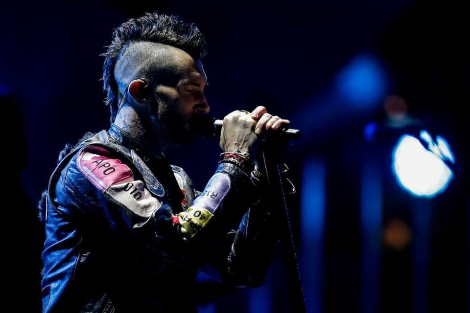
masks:
<svg viewBox="0 0 470 313"><path fill-rule="evenodd" d="M222 125L224 123L221 119L215 119L209 115L198 115L191 121L191 126L194 131L198 134L201 134L205 138L220 136L222 131ZM280 136L285 139L299 139L300 130L285 128L272 132L273 136Z"/></svg>

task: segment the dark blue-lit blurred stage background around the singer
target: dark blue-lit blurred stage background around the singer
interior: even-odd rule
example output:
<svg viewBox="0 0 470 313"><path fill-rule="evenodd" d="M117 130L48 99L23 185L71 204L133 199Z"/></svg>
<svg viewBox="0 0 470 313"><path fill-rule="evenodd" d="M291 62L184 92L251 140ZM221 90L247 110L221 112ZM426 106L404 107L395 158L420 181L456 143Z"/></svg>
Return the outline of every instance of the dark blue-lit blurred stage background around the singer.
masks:
<svg viewBox="0 0 470 313"><path fill-rule="evenodd" d="M302 130L286 163L299 190L290 204L308 312L470 311L463 5L84 0L1 7L3 164L13 178L3 187L4 286L5 301L21 308L15 311L40 311L44 229L35 206L59 151L109 127L99 54L113 28L154 10L195 22L206 35L213 116L264 105ZM407 114L397 122L390 108ZM440 134L455 155L454 177L434 198L410 195L391 172L405 124ZM202 190L219 153L218 140L201 139L166 155ZM214 296L200 312L290 312L286 288L277 253L263 287Z"/></svg>

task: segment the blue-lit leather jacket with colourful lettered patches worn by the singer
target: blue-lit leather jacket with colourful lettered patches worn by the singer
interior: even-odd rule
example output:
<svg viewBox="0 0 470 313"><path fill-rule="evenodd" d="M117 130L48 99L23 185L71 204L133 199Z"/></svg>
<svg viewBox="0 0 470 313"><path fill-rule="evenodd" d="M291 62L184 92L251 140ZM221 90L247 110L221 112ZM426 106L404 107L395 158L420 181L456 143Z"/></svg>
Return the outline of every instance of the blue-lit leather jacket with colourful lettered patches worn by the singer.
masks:
<svg viewBox="0 0 470 313"><path fill-rule="evenodd" d="M262 284L278 231L253 174L220 163L198 193L114 124L67 150L40 202L43 312L196 312L207 265L226 284Z"/></svg>

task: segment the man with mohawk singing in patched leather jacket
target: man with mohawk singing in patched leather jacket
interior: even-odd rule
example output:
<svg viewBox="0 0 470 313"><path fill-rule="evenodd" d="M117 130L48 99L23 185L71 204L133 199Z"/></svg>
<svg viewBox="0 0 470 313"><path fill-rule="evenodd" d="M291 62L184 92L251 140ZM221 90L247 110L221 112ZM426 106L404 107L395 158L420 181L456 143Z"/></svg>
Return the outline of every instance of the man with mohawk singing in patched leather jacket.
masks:
<svg viewBox="0 0 470 313"><path fill-rule="evenodd" d="M147 13L114 30L111 126L66 146L40 202L43 312L196 312L199 269L230 286L263 283L279 226L263 205L257 144L289 121L261 106L225 116L203 192L163 155L191 142L210 110L205 54L199 29L178 17Z"/></svg>

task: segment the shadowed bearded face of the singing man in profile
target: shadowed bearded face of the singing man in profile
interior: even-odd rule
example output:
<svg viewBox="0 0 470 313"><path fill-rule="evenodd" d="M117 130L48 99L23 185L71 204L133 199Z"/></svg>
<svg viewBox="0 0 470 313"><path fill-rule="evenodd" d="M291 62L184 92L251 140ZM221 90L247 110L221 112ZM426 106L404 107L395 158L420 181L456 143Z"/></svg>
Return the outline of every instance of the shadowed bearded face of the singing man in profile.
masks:
<svg viewBox="0 0 470 313"><path fill-rule="evenodd" d="M158 116L175 144L188 144L196 132L194 121L210 108L204 95L207 76L200 60L194 60L188 53L176 50L176 59L180 65L176 86L158 86ZM164 95L164 99L158 95Z"/></svg>

